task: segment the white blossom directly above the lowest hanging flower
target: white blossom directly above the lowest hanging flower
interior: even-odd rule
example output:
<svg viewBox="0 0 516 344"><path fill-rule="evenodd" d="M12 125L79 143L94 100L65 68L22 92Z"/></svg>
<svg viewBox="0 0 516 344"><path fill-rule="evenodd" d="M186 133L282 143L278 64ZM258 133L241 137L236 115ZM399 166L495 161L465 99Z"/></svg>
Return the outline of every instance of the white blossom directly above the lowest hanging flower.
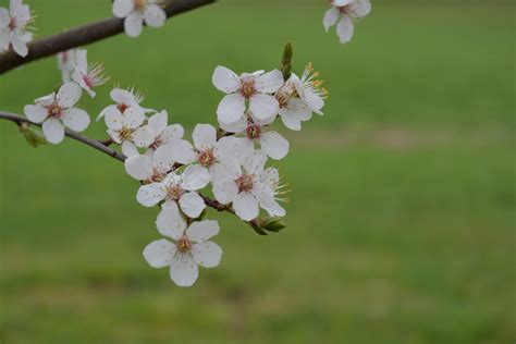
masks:
<svg viewBox="0 0 516 344"><path fill-rule="evenodd" d="M186 216L196 219L206 208L197 191L206 187L210 179L206 169L189 165L181 174L171 172L162 182L140 186L136 199L144 207L153 207L162 200L163 207L179 204Z"/></svg>

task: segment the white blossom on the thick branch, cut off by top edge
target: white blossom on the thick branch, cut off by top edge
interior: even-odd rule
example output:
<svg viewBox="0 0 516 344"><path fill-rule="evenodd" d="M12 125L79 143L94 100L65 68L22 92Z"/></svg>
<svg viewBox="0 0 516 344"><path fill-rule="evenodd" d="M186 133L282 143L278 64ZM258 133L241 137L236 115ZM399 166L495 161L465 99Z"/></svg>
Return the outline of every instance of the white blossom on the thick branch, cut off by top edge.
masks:
<svg viewBox="0 0 516 344"><path fill-rule="evenodd" d="M113 14L125 19L124 28L130 37L142 34L144 22L151 27L161 27L167 20L167 13L157 0L114 0Z"/></svg>

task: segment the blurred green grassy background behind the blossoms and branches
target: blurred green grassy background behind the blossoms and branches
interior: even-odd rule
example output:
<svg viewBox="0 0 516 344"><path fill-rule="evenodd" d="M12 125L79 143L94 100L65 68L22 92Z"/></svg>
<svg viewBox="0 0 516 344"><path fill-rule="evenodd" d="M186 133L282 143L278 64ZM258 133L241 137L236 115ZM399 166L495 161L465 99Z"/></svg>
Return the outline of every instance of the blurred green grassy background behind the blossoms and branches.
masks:
<svg viewBox="0 0 516 344"><path fill-rule="evenodd" d="M0 0L0 5L7 5ZM26 1L38 36L110 15L106 0ZM278 163L288 228L220 219L220 268L187 290L142 249L159 237L120 162L73 140L33 149L0 123L0 343L514 343L515 5L373 2L354 41L328 1L221 0L137 39L88 47L113 85L171 122L214 123L216 65L312 61L325 115ZM48 59L0 76L0 109L58 87ZM103 123L87 135L105 138Z"/></svg>

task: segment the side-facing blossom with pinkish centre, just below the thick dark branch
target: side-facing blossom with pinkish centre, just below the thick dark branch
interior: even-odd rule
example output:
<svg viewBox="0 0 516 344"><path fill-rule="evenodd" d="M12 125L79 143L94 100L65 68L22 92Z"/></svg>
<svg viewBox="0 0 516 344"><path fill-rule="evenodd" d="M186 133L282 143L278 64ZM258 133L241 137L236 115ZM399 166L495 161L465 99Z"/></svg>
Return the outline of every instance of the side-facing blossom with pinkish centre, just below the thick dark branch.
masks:
<svg viewBox="0 0 516 344"><path fill-rule="evenodd" d="M72 79L85 89L91 98L95 98L94 87L108 82L109 77L102 75L103 66L100 63L88 65L87 51L78 49L75 53L75 69Z"/></svg>

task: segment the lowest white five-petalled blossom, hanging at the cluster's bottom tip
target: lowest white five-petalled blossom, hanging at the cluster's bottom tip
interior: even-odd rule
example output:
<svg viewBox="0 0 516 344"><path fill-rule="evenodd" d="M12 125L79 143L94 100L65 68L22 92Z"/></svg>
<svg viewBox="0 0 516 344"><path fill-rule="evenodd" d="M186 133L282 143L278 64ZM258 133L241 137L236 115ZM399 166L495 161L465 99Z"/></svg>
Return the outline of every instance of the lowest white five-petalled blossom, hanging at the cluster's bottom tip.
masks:
<svg viewBox="0 0 516 344"><path fill-rule="evenodd" d="M152 268L170 267L170 278L179 286L192 286L199 275L199 266L220 265L222 249L210 238L219 234L217 221L193 222L188 228L177 209L164 208L157 220L158 231L173 239L159 239L144 249L144 258Z"/></svg>

